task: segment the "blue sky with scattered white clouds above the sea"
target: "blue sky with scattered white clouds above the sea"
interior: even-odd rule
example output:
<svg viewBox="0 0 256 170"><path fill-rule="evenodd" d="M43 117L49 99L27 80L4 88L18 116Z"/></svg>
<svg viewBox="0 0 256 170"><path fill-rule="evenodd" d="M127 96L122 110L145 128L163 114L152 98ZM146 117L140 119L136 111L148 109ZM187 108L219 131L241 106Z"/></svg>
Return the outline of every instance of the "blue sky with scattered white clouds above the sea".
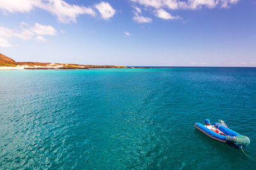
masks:
<svg viewBox="0 0 256 170"><path fill-rule="evenodd" d="M256 0L0 0L16 61L256 67Z"/></svg>

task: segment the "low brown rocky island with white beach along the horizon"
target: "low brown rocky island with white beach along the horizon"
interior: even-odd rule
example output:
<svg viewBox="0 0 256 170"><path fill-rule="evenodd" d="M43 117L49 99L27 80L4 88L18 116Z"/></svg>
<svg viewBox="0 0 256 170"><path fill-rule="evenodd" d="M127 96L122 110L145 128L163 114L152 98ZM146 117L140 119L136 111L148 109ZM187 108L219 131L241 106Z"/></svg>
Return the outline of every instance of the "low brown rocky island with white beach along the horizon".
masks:
<svg viewBox="0 0 256 170"><path fill-rule="evenodd" d="M148 68L127 66L95 66L82 64L61 64L52 62L16 62L0 53L0 69L92 69L92 68Z"/></svg>

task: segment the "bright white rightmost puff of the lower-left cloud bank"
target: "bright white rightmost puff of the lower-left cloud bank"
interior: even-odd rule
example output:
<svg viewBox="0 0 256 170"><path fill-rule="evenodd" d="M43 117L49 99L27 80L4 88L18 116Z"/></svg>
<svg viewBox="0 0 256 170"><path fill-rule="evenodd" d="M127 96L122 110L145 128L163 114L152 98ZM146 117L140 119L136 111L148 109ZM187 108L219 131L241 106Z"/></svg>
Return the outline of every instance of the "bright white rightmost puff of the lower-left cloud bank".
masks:
<svg viewBox="0 0 256 170"><path fill-rule="evenodd" d="M51 25L41 25L35 23L35 26L31 28L31 31L39 35L56 35L56 30Z"/></svg>

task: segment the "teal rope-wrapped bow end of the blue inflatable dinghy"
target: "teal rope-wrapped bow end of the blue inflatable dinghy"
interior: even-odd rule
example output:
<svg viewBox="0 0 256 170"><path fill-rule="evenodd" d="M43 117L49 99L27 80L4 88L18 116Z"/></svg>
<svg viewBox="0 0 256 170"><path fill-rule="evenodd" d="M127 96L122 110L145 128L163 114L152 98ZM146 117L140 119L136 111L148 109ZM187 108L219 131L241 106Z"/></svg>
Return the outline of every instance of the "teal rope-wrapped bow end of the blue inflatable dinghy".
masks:
<svg viewBox="0 0 256 170"><path fill-rule="evenodd" d="M241 148L250 144L250 139L247 136L226 136L226 143L234 148Z"/></svg>

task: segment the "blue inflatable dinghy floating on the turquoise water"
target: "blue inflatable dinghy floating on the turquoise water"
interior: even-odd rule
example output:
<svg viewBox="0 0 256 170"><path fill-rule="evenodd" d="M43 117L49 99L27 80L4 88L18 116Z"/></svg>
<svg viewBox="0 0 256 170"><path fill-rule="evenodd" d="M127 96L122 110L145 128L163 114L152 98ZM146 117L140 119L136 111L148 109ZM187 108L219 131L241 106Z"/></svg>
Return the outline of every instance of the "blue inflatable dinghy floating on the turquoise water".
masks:
<svg viewBox="0 0 256 170"><path fill-rule="evenodd" d="M247 136L243 136L229 129L223 120L211 125L210 120L205 119L205 125L196 122L195 128L210 138L220 141L221 143L227 143L227 145L234 148L241 148L250 144L250 139Z"/></svg>

